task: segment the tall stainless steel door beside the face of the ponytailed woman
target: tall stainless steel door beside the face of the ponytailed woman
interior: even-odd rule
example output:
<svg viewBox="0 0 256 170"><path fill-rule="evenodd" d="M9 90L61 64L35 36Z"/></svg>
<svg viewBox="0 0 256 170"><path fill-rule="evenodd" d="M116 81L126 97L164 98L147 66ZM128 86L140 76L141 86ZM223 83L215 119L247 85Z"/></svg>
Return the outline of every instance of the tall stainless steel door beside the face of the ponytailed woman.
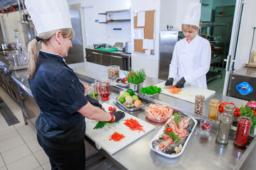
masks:
<svg viewBox="0 0 256 170"><path fill-rule="evenodd" d="M65 62L67 64L84 62L80 11L70 10L70 18L73 30L75 32L75 37L71 40L73 47L68 51L68 57L65 57Z"/></svg>

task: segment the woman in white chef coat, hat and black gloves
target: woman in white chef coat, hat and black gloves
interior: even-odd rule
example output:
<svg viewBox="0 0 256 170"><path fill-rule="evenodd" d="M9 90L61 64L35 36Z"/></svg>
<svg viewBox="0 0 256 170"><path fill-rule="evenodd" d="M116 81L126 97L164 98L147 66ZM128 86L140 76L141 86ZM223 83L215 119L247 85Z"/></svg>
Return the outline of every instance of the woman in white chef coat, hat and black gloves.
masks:
<svg viewBox="0 0 256 170"><path fill-rule="evenodd" d="M182 24L182 32L185 38L176 42L174 53L169 68L169 79L166 86L172 85L174 81L177 88L182 88L186 84L207 89L206 73L210 69L211 49L210 42L197 35L201 13L199 6L193 6L192 13L199 13L199 17L188 13Z"/></svg>

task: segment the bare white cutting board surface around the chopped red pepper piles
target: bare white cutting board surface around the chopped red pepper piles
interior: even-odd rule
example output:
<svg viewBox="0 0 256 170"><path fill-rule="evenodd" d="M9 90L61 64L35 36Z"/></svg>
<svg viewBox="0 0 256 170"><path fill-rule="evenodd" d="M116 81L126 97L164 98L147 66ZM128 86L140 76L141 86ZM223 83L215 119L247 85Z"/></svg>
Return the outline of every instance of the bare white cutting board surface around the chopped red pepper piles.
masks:
<svg viewBox="0 0 256 170"><path fill-rule="evenodd" d="M105 111L108 111L109 106L110 105L108 105L107 103L102 104L102 107L105 108ZM145 132L139 132L139 130L130 130L127 125L124 125L124 120L127 120L127 118L133 118L138 120L139 124L143 126ZM122 120L119 120L119 123L114 123L112 125L107 126L105 125L105 127L102 129L93 129L97 124L97 121L95 120L89 120L85 118L85 123L85 135L87 135L87 137L89 137L91 140L95 142L97 149L105 149L105 151L107 151L110 154L114 154L115 152L119 151L119 149L126 147L130 143L137 140L139 137L146 135L146 133L150 132L151 130L154 130L155 128L154 125L146 123L144 120L140 120L139 118L136 118L133 115L130 115L129 113L125 113L125 117L122 118ZM113 135L114 132L118 132L124 135L124 139L122 139L120 142L114 142L114 140L109 140L110 136Z"/></svg>

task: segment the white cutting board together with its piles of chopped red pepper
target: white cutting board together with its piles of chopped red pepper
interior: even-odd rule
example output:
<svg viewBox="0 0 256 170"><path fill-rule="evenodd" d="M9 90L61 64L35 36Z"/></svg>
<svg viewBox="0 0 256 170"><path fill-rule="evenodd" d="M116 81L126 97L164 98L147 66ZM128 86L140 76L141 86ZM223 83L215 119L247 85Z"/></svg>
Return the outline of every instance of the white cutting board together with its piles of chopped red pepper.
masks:
<svg viewBox="0 0 256 170"><path fill-rule="evenodd" d="M105 111L108 111L109 107L112 106L107 103L102 104ZM105 149L110 154L114 154L155 128L154 125L128 113L125 113L125 117L118 123L105 123L103 128L96 129L98 121L95 120L85 118L85 123L85 135L95 142L97 149Z"/></svg>

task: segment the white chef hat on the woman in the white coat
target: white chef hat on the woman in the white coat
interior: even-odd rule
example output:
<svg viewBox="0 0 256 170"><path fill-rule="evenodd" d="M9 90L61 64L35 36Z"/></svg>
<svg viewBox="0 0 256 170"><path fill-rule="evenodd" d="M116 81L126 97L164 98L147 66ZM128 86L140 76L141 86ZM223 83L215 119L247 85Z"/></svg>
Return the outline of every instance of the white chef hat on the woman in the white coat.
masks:
<svg viewBox="0 0 256 170"><path fill-rule="evenodd" d="M183 19L183 23L197 26L199 28L201 17L201 4L200 3L190 3L188 11Z"/></svg>

